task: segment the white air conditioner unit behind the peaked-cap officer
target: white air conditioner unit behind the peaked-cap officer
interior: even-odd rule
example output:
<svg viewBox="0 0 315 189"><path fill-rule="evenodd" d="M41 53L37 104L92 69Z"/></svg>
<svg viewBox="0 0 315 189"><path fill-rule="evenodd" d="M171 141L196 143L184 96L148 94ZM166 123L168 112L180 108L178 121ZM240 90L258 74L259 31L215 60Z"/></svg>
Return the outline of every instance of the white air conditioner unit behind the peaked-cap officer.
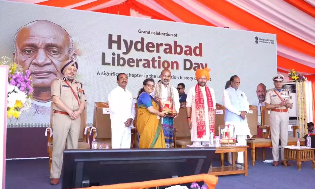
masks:
<svg viewBox="0 0 315 189"><path fill-rule="evenodd" d="M289 90L290 95L292 96L293 106L292 109L289 109L289 125L298 125L296 85L293 82L283 83L282 88Z"/></svg>

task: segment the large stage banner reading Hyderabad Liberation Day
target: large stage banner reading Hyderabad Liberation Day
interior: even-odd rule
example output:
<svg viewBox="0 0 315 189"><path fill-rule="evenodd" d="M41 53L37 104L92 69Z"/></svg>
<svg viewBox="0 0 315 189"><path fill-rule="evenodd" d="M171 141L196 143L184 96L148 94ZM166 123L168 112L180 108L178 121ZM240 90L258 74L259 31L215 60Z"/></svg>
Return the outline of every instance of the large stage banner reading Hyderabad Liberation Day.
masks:
<svg viewBox="0 0 315 189"><path fill-rule="evenodd" d="M216 102L221 102L226 81L238 75L240 89L253 105L258 103L257 85L271 88L277 74L274 34L9 1L0 1L0 12L0 56L29 69L34 82L31 110L18 121L8 120L8 127L49 126L50 83L62 77L61 62L73 58L88 100L88 126L94 102L107 101L121 72L136 98L143 80L157 82L164 68L172 73L172 86L184 83L188 91L197 83L195 70L209 67L207 85L214 88Z"/></svg>

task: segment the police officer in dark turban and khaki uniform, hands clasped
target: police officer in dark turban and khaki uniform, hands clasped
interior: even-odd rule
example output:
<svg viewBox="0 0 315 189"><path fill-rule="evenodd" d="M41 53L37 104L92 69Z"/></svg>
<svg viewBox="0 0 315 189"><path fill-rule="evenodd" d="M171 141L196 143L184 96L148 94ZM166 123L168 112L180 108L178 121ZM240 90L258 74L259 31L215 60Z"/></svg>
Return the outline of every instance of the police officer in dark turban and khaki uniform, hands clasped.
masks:
<svg viewBox="0 0 315 189"><path fill-rule="evenodd" d="M61 174L63 151L77 149L80 133L80 114L85 107L83 84L74 79L77 74L77 61L67 60L61 64L64 77L56 77L51 83L53 99L53 153L50 170L51 185L57 185Z"/></svg>

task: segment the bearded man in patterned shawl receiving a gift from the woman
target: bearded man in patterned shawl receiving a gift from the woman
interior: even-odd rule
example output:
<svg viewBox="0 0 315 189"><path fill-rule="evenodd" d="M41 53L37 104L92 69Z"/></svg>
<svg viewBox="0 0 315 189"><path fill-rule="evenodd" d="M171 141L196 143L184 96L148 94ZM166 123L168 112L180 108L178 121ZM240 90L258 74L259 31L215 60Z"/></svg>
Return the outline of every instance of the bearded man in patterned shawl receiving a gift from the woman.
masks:
<svg viewBox="0 0 315 189"><path fill-rule="evenodd" d="M177 95L177 89L170 85L171 72L168 69L164 69L160 75L161 82L158 82L154 88L154 100L160 101L170 101L171 108L179 112L180 103L179 96ZM165 143L167 148L174 147L174 117L162 117L161 120L163 134L165 138Z"/></svg>

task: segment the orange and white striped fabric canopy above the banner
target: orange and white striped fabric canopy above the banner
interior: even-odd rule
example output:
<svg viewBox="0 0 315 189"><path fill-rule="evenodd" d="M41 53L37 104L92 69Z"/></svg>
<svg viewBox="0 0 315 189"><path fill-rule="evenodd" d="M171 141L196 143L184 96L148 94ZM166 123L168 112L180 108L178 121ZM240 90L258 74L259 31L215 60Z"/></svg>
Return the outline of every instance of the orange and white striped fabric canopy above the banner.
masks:
<svg viewBox="0 0 315 189"><path fill-rule="evenodd" d="M278 72L315 74L315 0L13 0L277 34Z"/></svg>

